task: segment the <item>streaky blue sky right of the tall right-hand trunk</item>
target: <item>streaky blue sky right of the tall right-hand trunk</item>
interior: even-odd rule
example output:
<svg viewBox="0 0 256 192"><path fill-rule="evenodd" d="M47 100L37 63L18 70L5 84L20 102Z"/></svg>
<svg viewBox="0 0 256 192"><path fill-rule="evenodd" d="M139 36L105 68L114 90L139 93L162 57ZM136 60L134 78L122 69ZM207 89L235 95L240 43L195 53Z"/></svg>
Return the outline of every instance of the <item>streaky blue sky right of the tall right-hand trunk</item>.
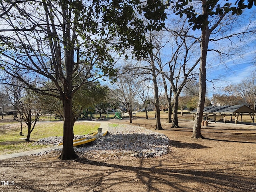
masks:
<svg viewBox="0 0 256 192"><path fill-rule="evenodd" d="M247 26L249 16L256 14L256 7L251 10L244 10L243 14L240 15L241 25ZM255 24L250 25L254 28L256 32ZM234 32L238 32L243 28L238 28ZM225 43L225 42L224 42ZM232 58L224 58L222 62L218 59L211 58L208 54L208 62L211 67L207 68L207 79L214 81L214 87L212 83L208 83L208 96L211 97L212 94L221 94L221 87L227 86L229 84L236 84L241 82L244 78L248 78L253 71L256 71L256 38L255 36L250 36L250 38L245 39L245 44L240 42L239 39L234 39L234 46L238 46L242 51L238 52ZM211 60L214 60L211 62Z"/></svg>

